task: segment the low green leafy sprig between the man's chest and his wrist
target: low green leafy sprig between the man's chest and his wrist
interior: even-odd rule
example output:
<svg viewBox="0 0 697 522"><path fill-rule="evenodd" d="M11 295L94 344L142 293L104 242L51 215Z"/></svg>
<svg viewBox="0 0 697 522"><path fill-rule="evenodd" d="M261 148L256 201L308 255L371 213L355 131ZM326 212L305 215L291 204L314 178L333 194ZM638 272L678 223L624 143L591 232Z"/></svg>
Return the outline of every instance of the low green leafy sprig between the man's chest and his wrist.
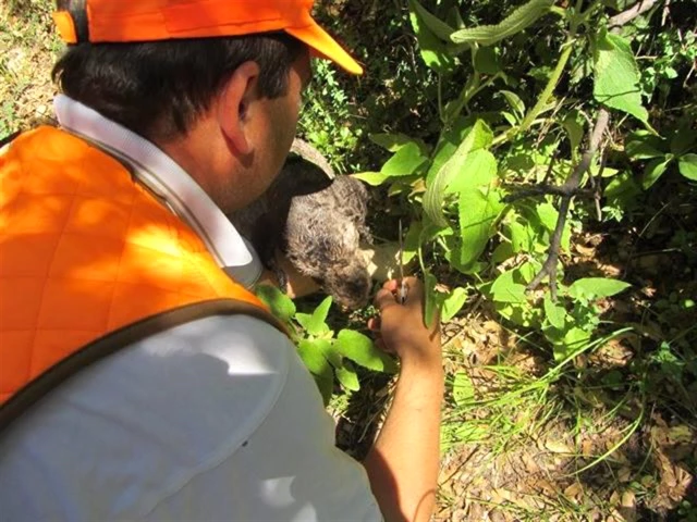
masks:
<svg viewBox="0 0 697 522"><path fill-rule="evenodd" d="M360 388L356 365L376 372L396 372L394 360L378 349L369 337L353 330L341 330L337 334L330 328L327 316L331 297L320 302L313 313L303 313L296 310L290 297L274 286L259 285L256 293L286 325L326 405L333 394L334 378L344 390L356 391Z"/></svg>

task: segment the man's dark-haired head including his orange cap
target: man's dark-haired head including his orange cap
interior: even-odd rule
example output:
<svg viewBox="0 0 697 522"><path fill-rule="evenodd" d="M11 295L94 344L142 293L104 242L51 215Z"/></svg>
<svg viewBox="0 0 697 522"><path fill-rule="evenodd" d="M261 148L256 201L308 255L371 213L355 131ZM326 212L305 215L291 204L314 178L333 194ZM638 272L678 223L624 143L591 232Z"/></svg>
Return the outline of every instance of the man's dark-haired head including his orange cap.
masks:
<svg viewBox="0 0 697 522"><path fill-rule="evenodd" d="M308 52L360 72L314 22L311 5L59 0L54 20L71 46L53 77L71 98L163 148L229 211L279 172L309 79Z"/></svg>

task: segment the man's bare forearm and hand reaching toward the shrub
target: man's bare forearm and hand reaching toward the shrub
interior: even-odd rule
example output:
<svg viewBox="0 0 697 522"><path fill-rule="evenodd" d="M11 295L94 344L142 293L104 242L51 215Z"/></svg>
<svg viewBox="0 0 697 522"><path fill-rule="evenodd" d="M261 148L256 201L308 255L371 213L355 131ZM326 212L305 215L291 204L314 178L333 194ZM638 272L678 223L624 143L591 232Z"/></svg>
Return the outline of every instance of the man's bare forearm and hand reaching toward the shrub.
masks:
<svg viewBox="0 0 697 522"><path fill-rule="evenodd" d="M404 304L394 299L394 281L376 297L379 340L402 360L392 407L364 462L388 522L430 520L440 461L444 381L440 332L438 321L431 328L424 325L421 284L415 278L407 284Z"/></svg>

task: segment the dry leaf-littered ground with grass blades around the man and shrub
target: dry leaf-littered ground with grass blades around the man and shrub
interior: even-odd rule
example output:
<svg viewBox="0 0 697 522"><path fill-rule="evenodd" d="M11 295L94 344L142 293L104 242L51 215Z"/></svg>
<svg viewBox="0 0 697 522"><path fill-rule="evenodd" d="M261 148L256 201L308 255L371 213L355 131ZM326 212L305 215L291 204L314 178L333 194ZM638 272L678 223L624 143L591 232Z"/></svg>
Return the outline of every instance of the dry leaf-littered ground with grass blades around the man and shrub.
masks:
<svg viewBox="0 0 697 522"><path fill-rule="evenodd" d="M50 69L61 49L47 0L7 1L0 139L50 116ZM697 341L696 309L678 306L697 299L696 201L694 188L676 198L667 183L647 202L655 211L641 226L574 237L563 256L570 278L621 275L633 289L603 303L607 341L564 368L535 333L501 322L478 296L443 324L436 520L697 520L697 388L658 378L694 364L671 359L670 347ZM676 228L688 232L677 237ZM439 275L456 284L456 275ZM631 330L613 336L616 326ZM643 357L649 351L663 356ZM350 453L365 455L392 384L365 375L360 391L332 402L339 444Z"/></svg>

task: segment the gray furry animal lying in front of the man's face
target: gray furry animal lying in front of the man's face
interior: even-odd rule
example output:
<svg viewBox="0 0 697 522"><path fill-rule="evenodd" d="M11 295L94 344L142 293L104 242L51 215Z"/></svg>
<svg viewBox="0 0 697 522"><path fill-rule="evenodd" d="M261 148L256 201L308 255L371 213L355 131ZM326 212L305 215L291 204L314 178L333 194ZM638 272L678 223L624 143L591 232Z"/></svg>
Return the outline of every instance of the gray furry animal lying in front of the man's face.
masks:
<svg viewBox="0 0 697 522"><path fill-rule="evenodd" d="M360 308L371 286L359 247L372 243L366 226L368 191L353 177L334 176L308 144L296 139L291 152L264 196L229 219L277 273L281 287L285 276L274 263L277 248L340 306Z"/></svg>

